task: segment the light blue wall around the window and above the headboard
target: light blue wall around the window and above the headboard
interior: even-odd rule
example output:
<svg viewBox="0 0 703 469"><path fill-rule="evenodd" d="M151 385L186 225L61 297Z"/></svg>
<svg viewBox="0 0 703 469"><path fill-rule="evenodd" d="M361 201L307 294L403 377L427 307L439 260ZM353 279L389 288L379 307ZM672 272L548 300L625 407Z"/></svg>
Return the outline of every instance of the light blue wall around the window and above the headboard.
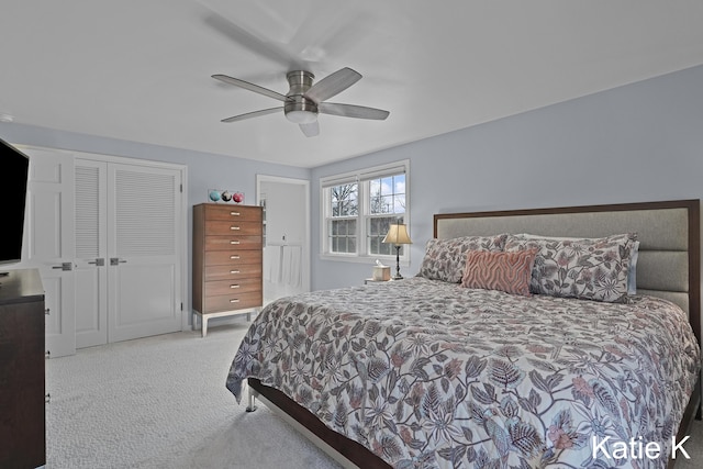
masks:
<svg viewBox="0 0 703 469"><path fill-rule="evenodd" d="M405 277L417 272L434 213L701 199L703 67L315 168L313 249L321 177L405 158L414 242ZM313 253L312 272L312 288L327 289L360 284L371 266Z"/></svg>

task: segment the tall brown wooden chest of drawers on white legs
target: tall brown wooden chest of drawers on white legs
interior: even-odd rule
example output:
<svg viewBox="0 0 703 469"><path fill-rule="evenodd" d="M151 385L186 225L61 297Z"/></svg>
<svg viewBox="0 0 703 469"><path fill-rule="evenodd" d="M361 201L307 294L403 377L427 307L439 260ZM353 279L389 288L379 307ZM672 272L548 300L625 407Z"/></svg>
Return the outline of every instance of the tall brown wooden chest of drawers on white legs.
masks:
<svg viewBox="0 0 703 469"><path fill-rule="evenodd" d="M263 226L260 206L193 206L193 312L203 337L209 319L261 306Z"/></svg>

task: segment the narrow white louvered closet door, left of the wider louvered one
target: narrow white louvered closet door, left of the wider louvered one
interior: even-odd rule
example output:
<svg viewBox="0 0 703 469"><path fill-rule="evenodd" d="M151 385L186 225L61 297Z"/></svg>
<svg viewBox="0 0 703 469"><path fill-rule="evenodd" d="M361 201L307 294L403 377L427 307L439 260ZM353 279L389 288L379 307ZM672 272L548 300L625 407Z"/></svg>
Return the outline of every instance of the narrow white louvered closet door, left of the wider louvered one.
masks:
<svg viewBox="0 0 703 469"><path fill-rule="evenodd" d="M76 159L76 348L108 342L108 165Z"/></svg>

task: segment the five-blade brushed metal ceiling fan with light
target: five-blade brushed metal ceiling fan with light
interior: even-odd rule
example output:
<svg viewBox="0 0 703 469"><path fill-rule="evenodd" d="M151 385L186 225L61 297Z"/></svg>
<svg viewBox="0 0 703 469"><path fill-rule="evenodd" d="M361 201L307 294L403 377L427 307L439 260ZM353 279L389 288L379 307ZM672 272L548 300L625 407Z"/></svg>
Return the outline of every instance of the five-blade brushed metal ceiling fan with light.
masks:
<svg viewBox="0 0 703 469"><path fill-rule="evenodd" d="M319 113L378 121L384 120L390 114L389 111L376 108L326 102L327 99L341 93L361 79L361 75L358 71L348 67L326 76L314 85L313 79L315 76L312 72L306 70L289 71L286 75L290 87L287 94L281 94L268 88L259 87L258 85L226 75L213 75L212 78L283 102L283 105L277 108L261 109L259 111L234 115L223 119L222 122L243 121L245 119L258 118L259 115L272 114L283 110L286 118L299 124L300 130L305 136L314 137L320 134L320 125L317 124Z"/></svg>

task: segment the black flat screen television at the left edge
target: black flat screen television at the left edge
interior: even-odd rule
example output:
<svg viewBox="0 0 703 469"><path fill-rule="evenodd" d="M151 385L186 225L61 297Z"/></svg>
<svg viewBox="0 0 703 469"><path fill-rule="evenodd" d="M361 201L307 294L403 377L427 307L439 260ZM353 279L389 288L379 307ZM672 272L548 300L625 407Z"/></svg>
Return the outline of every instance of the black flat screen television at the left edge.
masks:
<svg viewBox="0 0 703 469"><path fill-rule="evenodd" d="M30 158L0 139L0 265L22 258Z"/></svg>

